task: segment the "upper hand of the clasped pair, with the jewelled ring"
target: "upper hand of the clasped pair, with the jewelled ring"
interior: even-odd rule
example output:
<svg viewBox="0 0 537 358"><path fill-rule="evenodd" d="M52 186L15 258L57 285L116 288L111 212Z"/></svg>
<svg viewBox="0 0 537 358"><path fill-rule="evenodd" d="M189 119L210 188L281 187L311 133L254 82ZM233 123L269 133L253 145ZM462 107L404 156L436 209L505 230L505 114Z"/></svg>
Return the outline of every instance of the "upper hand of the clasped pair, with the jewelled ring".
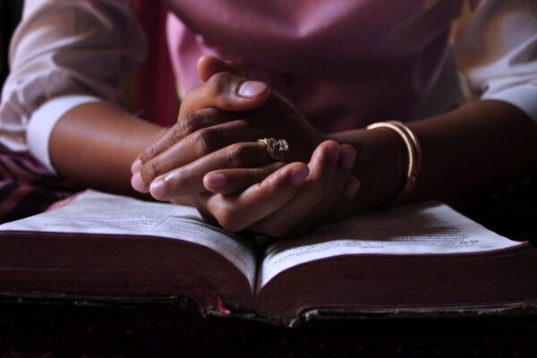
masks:
<svg viewBox="0 0 537 358"><path fill-rule="evenodd" d="M132 167L132 186L151 192L158 200L176 200L204 192L203 177L210 171L257 168L235 183L237 191L260 183L285 162L303 161L325 139L285 98L268 86L248 81L234 64L214 57L200 63L200 77L210 75L183 100L178 123L148 149ZM235 66L235 68L233 68ZM208 71L208 69L210 71ZM246 89L246 90L244 90ZM260 138L286 139L289 151L274 162Z"/></svg>

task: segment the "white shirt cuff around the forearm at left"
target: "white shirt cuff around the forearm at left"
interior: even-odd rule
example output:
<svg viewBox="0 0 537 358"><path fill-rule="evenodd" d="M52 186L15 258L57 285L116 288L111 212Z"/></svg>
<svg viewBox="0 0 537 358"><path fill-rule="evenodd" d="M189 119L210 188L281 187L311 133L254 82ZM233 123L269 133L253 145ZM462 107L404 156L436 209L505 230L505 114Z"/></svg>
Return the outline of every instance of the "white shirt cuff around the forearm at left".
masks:
<svg viewBox="0 0 537 358"><path fill-rule="evenodd" d="M55 124L72 108L100 101L102 101L101 98L93 96L72 95L49 99L38 107L30 116L26 129L26 141L34 158L37 158L51 173L56 174L48 152L48 141L50 141L50 134Z"/></svg>

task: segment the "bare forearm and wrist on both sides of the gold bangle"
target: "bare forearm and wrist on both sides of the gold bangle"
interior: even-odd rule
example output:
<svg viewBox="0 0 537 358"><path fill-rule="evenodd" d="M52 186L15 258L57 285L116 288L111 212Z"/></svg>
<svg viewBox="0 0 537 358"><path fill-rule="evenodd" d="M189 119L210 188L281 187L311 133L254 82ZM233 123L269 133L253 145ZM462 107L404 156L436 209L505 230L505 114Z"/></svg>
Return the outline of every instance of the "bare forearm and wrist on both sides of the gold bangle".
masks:
<svg viewBox="0 0 537 358"><path fill-rule="evenodd" d="M408 200L461 199L516 179L537 165L537 125L504 102L476 101L407 125L422 144L422 170ZM355 174L364 183L356 209L386 203L388 195L381 195L379 186L385 185L391 197L401 188L408 158L396 132L358 130L333 138L354 144L359 153L371 153L357 160ZM390 158L382 157L381 150Z"/></svg>

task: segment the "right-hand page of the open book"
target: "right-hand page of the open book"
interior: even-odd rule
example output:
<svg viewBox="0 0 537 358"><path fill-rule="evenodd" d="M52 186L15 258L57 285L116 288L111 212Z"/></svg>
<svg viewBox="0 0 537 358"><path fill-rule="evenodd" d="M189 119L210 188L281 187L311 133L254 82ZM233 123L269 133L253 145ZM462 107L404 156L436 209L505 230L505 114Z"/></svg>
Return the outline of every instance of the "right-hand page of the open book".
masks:
<svg viewBox="0 0 537 358"><path fill-rule="evenodd" d="M517 244L447 205L415 204L347 218L298 239L275 240L261 263L258 287L288 268L339 255L450 254Z"/></svg>

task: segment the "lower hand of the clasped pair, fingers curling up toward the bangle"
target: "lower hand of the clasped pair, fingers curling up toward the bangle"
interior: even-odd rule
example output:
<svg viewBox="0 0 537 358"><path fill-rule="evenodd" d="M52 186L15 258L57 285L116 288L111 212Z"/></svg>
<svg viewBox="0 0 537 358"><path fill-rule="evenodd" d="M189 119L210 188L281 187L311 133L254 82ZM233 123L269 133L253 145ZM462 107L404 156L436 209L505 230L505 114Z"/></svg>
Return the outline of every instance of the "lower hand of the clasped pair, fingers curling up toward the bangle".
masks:
<svg viewBox="0 0 537 358"><path fill-rule="evenodd" d="M274 237L303 234L322 222L345 216L360 183L351 170L356 151L348 144L324 141L308 166L295 162L268 175L244 192L227 195L244 169L217 170L205 176L210 192L192 197L209 222L229 231L248 230ZM226 185L212 188L210 177L226 177Z"/></svg>

